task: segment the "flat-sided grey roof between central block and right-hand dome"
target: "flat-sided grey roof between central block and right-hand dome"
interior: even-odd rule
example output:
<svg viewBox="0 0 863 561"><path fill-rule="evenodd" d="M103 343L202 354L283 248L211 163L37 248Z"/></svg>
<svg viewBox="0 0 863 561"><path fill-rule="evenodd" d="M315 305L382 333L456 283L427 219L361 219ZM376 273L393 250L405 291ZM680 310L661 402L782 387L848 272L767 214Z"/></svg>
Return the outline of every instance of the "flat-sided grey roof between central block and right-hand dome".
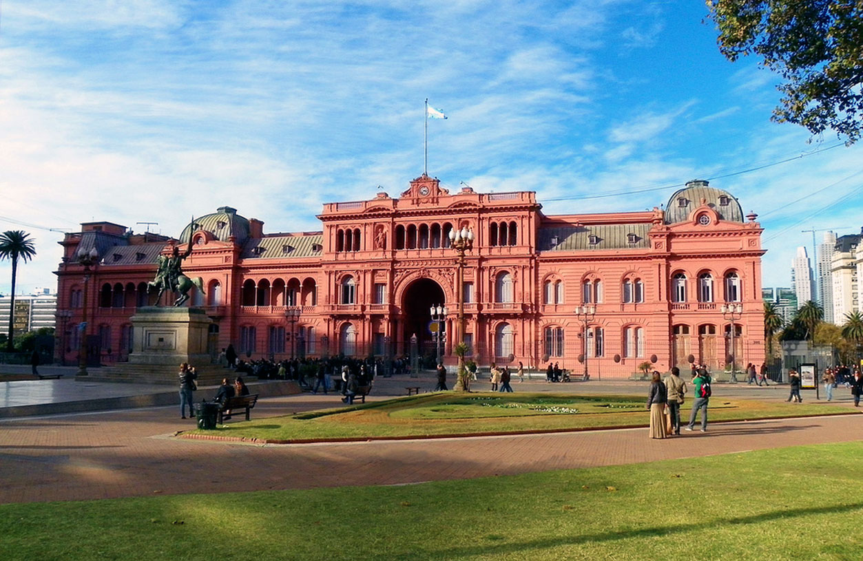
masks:
<svg viewBox="0 0 863 561"><path fill-rule="evenodd" d="M647 231L652 224L595 224L587 226L545 226L539 229L539 251L586 251L602 249L648 249ZM635 235L634 243L629 234ZM596 243L590 243L596 236ZM555 243L557 237L557 243Z"/></svg>

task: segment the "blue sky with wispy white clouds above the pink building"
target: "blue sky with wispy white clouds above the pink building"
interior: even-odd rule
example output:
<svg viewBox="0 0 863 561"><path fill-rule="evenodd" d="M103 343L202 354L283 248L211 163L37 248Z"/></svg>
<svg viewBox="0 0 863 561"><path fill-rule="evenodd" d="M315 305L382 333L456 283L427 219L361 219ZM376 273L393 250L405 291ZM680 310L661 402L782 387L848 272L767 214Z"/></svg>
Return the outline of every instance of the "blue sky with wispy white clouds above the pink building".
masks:
<svg viewBox="0 0 863 561"><path fill-rule="evenodd" d="M429 123L444 186L536 191L555 214L640 211L708 179L761 215L764 285L787 286L801 230L860 231L863 151L771 123L777 77L721 57L705 16L627 0L5 0L0 230L39 251L18 286L56 285L51 230L81 222L177 236L230 205L266 231L318 230L325 202L397 196L423 172L425 98L449 117Z"/></svg>

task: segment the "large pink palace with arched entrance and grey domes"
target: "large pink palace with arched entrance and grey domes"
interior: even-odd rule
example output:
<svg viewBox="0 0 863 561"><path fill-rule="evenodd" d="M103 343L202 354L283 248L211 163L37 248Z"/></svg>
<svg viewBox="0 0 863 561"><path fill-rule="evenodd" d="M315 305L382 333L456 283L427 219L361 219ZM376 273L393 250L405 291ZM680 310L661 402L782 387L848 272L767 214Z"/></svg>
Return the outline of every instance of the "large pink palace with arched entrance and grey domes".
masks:
<svg viewBox="0 0 863 561"><path fill-rule="evenodd" d="M689 359L722 369L764 358L761 228L728 192L691 181L665 211L546 216L533 192L450 193L420 176L398 199L330 203L316 232L264 233L230 207L186 228L188 276L204 281L191 306L211 317L211 352L243 355L400 356L416 336L434 356L431 306L447 306L444 332L481 363L549 361L591 375L627 378L642 362L665 370ZM468 228L463 287L449 232ZM58 310L69 310L66 360L78 355L84 306L79 250L98 250L88 282L88 341L102 362L124 360L129 318L154 304L146 291L155 260L177 240L129 235L111 223L82 224L62 242ZM167 302L166 302L167 303ZM723 304L742 306L731 320ZM163 304L164 305L164 304ZM595 313L576 315L577 306ZM583 309L583 308L582 308ZM289 318L286 312L299 314ZM59 324L58 324L59 325ZM441 347L455 362L456 337Z"/></svg>

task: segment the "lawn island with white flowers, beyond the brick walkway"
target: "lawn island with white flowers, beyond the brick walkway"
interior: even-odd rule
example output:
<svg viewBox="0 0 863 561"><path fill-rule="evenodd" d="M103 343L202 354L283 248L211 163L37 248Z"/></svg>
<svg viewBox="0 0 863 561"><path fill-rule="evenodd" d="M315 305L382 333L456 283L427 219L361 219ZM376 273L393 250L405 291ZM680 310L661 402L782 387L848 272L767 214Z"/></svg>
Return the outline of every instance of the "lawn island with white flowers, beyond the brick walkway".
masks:
<svg viewBox="0 0 863 561"><path fill-rule="evenodd" d="M642 396L439 392L287 417L231 422L215 431L190 433L291 442L646 426L645 402ZM682 418L688 418L690 407L691 401L687 401ZM814 403L720 398L711 399L709 407L709 419L714 421L841 413L850 410Z"/></svg>

